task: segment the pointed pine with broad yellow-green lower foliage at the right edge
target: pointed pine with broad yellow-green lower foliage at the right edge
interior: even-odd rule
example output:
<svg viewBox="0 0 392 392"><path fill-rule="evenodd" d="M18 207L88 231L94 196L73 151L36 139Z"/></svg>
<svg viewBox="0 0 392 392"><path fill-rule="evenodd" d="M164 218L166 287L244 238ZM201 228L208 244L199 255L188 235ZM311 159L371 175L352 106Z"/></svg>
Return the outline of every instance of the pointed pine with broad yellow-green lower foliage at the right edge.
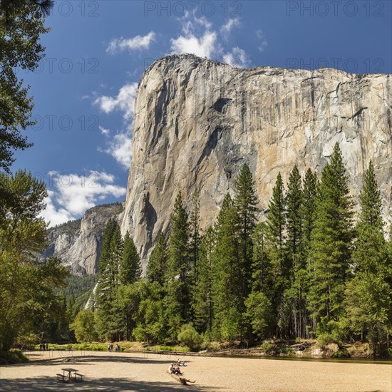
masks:
<svg viewBox="0 0 392 392"><path fill-rule="evenodd" d="M392 290L388 284L391 265L383 236L381 195L371 162L365 173L360 202L357 239L351 258L355 277L347 284L346 311L351 329L356 334L368 334L376 356L381 354L381 344L386 342L392 326Z"/></svg>

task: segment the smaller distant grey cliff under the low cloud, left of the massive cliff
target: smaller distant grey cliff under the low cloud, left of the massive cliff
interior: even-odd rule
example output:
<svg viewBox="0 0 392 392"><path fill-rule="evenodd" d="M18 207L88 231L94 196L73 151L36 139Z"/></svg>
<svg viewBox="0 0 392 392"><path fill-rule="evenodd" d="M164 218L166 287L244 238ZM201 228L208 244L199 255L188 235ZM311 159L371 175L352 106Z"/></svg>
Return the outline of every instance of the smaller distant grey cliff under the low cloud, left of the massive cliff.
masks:
<svg viewBox="0 0 392 392"><path fill-rule="evenodd" d="M53 227L48 231L49 246L44 257L61 257L75 275L96 274L103 232L110 218L122 220L123 205L99 205L86 211L81 220Z"/></svg>

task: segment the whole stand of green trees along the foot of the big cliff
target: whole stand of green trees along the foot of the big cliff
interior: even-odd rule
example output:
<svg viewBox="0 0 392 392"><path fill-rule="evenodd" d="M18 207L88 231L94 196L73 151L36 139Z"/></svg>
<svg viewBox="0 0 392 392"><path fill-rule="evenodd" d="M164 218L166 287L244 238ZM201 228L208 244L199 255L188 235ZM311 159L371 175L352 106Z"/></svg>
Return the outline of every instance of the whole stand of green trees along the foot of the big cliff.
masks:
<svg viewBox="0 0 392 392"><path fill-rule="evenodd" d="M215 225L202 237L197 192L190 219L177 195L168 242L158 235L147 279L133 279L138 273L125 268L138 263L125 264L124 254L138 261L137 252L129 235L123 243L118 225L109 222L96 292L100 335L170 344L155 349L175 351L171 345L177 341L197 350L212 347L211 339L216 346L316 335L321 345L341 346L367 337L374 353L386 354L392 240L383 237L372 166L365 182L354 231L348 178L336 145L321 183L311 170L302 183L294 167L285 193L279 173L267 219L256 224L254 183L244 165L234 201L225 196ZM262 348L267 354L293 352L271 341ZM336 354L343 355L344 350Z"/></svg>

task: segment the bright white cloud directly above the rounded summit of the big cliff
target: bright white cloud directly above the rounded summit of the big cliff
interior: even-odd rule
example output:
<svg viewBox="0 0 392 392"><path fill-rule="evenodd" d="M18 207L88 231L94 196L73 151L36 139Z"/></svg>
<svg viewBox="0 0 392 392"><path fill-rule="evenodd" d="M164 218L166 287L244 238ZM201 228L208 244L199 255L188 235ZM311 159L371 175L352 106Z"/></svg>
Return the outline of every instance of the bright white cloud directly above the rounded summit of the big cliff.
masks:
<svg viewBox="0 0 392 392"><path fill-rule="evenodd" d="M217 33L215 31L206 31L204 35L197 38L192 33L186 36L180 36L177 39L171 39L172 53L191 53L200 57L211 57L215 52L215 43Z"/></svg>

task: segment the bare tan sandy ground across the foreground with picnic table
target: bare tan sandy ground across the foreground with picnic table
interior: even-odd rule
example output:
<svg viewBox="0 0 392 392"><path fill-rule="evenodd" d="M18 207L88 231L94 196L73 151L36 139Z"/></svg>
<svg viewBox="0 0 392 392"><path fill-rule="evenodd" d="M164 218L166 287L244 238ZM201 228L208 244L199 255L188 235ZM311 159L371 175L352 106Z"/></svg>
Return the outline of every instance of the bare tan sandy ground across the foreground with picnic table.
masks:
<svg viewBox="0 0 392 392"><path fill-rule="evenodd" d="M182 386L167 373L173 356L51 351L31 359L0 368L0 391L392 391L388 364L184 356L185 377L196 383ZM59 382L61 368L76 368L86 378Z"/></svg>

